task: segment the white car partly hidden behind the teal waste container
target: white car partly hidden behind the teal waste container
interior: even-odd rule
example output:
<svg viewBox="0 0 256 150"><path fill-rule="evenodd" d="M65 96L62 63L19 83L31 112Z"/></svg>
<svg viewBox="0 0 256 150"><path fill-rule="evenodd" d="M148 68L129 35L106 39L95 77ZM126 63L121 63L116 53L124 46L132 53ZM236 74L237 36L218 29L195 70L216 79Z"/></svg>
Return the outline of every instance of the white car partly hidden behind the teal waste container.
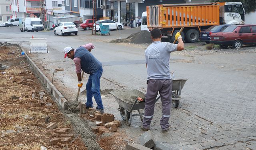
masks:
<svg viewBox="0 0 256 150"><path fill-rule="evenodd" d="M117 30L121 30L122 28L124 28L123 24L119 22L115 22L114 20L106 19L106 20L96 21L96 32L100 31L100 25L99 25L100 22L102 23L102 25L109 25L110 30L115 30L116 28ZM94 29L95 29L95 24L93 24L93 30Z"/></svg>

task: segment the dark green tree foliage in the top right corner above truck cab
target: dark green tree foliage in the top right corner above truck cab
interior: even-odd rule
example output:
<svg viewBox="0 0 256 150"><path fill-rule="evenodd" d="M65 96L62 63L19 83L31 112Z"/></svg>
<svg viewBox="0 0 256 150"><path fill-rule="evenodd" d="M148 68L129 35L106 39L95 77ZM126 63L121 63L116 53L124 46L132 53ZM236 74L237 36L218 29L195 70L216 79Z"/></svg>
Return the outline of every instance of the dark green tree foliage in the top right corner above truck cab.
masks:
<svg viewBox="0 0 256 150"><path fill-rule="evenodd" d="M256 10L256 0L212 0L213 2L242 2L245 6L246 13Z"/></svg>

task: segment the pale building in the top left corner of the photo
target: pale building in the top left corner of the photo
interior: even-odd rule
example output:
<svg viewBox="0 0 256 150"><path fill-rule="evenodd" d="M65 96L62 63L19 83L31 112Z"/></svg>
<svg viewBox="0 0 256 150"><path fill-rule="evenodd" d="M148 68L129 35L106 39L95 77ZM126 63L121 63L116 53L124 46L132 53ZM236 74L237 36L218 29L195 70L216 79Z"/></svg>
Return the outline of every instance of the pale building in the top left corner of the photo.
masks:
<svg viewBox="0 0 256 150"><path fill-rule="evenodd" d="M11 0L0 0L0 23L12 18Z"/></svg>

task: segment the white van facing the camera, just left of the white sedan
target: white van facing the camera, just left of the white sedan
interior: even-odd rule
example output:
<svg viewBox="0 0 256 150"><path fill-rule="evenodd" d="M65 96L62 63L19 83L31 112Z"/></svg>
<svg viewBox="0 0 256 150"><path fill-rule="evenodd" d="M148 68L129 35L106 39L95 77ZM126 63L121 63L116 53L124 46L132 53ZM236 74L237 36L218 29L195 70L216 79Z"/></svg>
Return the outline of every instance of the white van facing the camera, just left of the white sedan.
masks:
<svg viewBox="0 0 256 150"><path fill-rule="evenodd" d="M40 18L25 18L25 29L27 32L38 32L44 30L44 25Z"/></svg>

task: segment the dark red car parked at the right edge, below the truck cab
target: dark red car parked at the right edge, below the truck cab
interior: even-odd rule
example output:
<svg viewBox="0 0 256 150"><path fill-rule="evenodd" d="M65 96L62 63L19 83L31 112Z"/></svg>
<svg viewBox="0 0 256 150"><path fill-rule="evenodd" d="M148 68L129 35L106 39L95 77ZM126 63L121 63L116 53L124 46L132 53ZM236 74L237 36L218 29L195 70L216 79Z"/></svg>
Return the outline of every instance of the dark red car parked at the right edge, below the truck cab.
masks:
<svg viewBox="0 0 256 150"><path fill-rule="evenodd" d="M231 25L222 32L212 33L210 43L221 48L240 48L242 44L256 44L256 24Z"/></svg>

